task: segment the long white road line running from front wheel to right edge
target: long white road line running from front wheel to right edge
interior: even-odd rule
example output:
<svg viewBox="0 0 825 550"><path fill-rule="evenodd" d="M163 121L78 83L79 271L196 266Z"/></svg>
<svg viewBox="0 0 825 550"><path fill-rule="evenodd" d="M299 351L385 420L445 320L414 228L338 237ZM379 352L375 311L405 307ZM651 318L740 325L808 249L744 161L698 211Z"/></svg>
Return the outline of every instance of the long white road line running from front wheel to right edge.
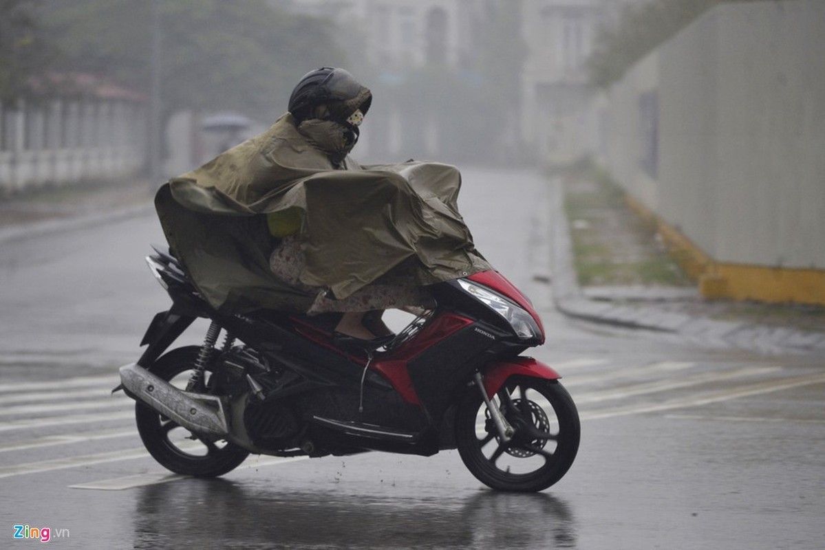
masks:
<svg viewBox="0 0 825 550"><path fill-rule="evenodd" d="M584 411L579 413L579 418L581 420L600 420L602 418L614 418L615 416L638 415L646 412L700 407L702 405L709 405L710 403L730 401L731 399L761 395L763 393L780 392L785 389L798 388L799 386L808 386L816 383L825 383L825 374L809 374L807 376L798 376L794 378L767 380L765 382L752 383L747 386L741 386L730 390L705 393L704 395L698 395L695 397L682 397L661 403L639 404L629 407L615 407L613 409L604 409L601 411Z"/></svg>

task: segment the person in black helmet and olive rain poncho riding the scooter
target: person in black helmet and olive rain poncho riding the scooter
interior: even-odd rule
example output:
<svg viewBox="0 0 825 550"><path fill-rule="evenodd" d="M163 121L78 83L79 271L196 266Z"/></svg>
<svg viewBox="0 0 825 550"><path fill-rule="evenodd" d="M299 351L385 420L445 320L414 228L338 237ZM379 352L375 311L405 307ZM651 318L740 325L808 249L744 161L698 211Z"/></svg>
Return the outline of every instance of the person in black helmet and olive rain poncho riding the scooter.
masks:
<svg viewBox="0 0 825 550"><path fill-rule="evenodd" d="M158 190L167 241L213 308L342 313L337 343L363 345L392 336L385 308L430 305L432 284L490 269L455 167L348 156L371 101L344 69L318 68L269 129Z"/></svg>

